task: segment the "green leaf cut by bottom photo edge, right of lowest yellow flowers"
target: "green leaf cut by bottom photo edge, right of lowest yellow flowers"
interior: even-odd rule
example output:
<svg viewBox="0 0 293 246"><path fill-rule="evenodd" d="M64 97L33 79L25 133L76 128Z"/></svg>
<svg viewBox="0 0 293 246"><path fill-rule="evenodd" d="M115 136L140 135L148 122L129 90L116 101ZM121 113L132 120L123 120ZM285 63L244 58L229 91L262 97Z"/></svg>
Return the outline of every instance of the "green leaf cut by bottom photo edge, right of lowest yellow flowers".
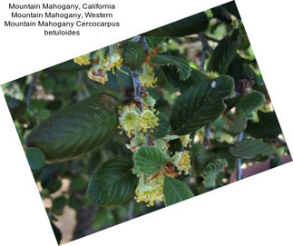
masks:
<svg viewBox="0 0 293 246"><path fill-rule="evenodd" d="M190 188L179 180L166 176L163 186L163 193L166 206L184 201L193 197Z"/></svg>

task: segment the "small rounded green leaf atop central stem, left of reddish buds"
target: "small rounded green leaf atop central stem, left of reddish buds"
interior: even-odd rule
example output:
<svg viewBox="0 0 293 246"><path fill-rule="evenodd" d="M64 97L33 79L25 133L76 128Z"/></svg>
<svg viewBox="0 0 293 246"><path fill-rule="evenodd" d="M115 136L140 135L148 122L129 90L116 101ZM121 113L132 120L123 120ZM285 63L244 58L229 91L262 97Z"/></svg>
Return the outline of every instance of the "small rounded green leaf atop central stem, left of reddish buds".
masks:
<svg viewBox="0 0 293 246"><path fill-rule="evenodd" d="M123 64L129 66L132 70L137 70L142 66L143 62L142 44L132 42L123 45Z"/></svg>

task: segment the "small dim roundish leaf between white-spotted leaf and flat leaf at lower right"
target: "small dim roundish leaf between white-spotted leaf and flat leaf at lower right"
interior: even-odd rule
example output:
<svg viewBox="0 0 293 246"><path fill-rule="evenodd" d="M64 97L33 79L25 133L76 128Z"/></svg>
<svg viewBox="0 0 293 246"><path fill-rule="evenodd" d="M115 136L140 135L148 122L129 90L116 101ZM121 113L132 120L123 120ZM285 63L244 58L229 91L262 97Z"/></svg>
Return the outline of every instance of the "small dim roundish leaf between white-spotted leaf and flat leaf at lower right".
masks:
<svg viewBox="0 0 293 246"><path fill-rule="evenodd" d="M244 113L240 111L237 114L231 114L228 117L229 118L226 119L228 125L225 128L228 133L239 134L245 130L247 119Z"/></svg>

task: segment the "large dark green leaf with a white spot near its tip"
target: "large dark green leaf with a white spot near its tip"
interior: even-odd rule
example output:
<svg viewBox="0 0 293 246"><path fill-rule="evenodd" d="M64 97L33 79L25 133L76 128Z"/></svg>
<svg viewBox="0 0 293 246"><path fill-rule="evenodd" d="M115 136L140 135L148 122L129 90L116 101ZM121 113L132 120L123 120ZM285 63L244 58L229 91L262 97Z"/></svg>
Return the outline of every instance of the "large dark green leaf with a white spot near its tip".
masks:
<svg viewBox="0 0 293 246"><path fill-rule="evenodd" d="M173 107L170 122L174 134L192 133L216 120L225 111L223 100L230 96L233 89L233 79L229 76L190 86Z"/></svg>

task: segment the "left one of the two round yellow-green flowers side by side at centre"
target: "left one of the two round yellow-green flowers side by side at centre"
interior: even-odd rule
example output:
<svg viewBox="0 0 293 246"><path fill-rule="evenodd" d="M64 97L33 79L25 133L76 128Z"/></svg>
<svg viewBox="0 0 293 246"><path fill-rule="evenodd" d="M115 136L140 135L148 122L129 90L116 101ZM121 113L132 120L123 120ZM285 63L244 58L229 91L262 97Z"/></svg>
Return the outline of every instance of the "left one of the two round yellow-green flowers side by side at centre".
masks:
<svg viewBox="0 0 293 246"><path fill-rule="evenodd" d="M129 138L138 130L141 117L135 104L127 105L119 112L119 128L124 130Z"/></svg>

